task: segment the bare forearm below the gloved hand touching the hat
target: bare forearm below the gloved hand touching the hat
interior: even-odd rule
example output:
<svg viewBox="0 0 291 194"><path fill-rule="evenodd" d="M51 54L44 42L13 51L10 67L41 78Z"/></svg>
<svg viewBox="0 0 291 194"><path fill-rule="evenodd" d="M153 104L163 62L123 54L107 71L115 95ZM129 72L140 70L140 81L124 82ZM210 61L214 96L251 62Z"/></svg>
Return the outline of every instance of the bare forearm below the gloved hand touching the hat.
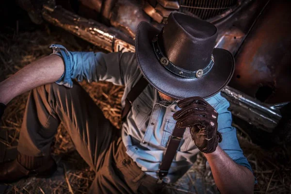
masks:
<svg viewBox="0 0 291 194"><path fill-rule="evenodd" d="M215 184L222 194L252 194L254 191L254 176L251 171L234 162L217 146L207 158Z"/></svg>

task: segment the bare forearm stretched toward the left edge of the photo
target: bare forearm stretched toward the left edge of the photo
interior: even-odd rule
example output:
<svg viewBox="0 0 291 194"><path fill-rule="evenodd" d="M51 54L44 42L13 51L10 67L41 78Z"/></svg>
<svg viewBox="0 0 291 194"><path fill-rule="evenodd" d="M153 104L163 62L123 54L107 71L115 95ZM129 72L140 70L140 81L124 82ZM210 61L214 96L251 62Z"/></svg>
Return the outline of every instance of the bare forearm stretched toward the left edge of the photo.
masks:
<svg viewBox="0 0 291 194"><path fill-rule="evenodd" d="M24 92L57 81L64 70L65 65L61 57L49 55L41 58L0 82L0 102L7 104Z"/></svg>

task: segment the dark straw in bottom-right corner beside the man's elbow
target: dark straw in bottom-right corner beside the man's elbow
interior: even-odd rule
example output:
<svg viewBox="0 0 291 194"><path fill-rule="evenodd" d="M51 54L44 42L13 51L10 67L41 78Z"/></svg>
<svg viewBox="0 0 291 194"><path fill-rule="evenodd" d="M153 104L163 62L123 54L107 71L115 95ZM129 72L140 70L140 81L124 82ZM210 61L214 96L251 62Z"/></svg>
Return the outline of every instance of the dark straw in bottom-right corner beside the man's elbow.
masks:
<svg viewBox="0 0 291 194"><path fill-rule="evenodd" d="M255 193L290 194L291 150L278 146L265 150L250 143L240 134L238 139L258 180Z"/></svg>

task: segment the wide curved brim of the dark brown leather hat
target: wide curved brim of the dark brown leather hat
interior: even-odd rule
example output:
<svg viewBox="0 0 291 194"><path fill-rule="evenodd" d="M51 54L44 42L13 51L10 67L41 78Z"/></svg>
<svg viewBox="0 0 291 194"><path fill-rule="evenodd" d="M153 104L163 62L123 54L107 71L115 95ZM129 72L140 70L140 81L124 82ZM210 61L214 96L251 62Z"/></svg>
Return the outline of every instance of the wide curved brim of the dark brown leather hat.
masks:
<svg viewBox="0 0 291 194"><path fill-rule="evenodd" d="M151 24L141 22L135 39L138 66L146 80L157 90L177 99L197 96L208 98L228 84L234 72L234 58L229 51L214 48L214 65L210 72L201 78L182 78L164 68L156 58L152 40L159 32Z"/></svg>

